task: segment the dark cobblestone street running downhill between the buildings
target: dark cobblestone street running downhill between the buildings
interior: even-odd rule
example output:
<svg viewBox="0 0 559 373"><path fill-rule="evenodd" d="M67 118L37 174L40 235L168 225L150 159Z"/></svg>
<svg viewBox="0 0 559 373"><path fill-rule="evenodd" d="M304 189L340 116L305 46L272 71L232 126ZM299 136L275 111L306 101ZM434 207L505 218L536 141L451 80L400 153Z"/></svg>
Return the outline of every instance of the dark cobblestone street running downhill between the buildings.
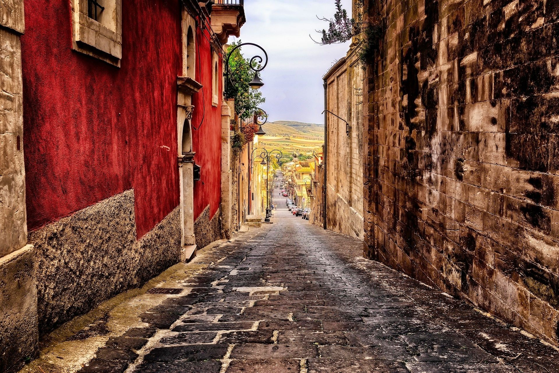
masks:
<svg viewBox="0 0 559 373"><path fill-rule="evenodd" d="M202 253L193 265L204 270L136 299L159 304L80 372L559 371L554 348L363 259L362 242L276 203L274 224Z"/></svg>

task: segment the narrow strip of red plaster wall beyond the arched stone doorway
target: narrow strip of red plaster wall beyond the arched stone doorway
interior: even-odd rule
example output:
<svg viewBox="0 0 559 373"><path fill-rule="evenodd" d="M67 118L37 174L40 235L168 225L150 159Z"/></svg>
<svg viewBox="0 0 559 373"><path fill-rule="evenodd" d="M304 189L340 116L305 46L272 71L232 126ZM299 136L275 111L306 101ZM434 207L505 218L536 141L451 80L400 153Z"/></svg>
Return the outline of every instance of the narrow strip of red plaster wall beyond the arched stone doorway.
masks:
<svg viewBox="0 0 559 373"><path fill-rule="evenodd" d="M195 219L210 205L210 218L214 217L221 201L221 93L217 97L217 106L212 105L213 84L213 52L210 48L209 35L204 37L198 30L197 53L200 54L201 64L196 67L196 80L203 88L192 100L195 106L192 116L192 147L196 152L196 164L201 169L200 181L194 182L194 215ZM219 77L221 77L222 62L218 62ZM221 92L221 78L219 92ZM196 130L196 128L199 128Z"/></svg>

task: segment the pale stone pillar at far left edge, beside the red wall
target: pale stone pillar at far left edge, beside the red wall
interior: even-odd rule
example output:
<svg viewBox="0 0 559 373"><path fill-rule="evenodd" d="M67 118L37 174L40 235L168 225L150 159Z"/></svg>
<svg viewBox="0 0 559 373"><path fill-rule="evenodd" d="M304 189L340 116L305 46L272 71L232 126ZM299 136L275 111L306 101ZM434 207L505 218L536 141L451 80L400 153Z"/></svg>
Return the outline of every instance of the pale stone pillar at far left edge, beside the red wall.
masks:
<svg viewBox="0 0 559 373"><path fill-rule="evenodd" d="M0 0L0 372L37 355L34 255L23 165L23 0Z"/></svg>

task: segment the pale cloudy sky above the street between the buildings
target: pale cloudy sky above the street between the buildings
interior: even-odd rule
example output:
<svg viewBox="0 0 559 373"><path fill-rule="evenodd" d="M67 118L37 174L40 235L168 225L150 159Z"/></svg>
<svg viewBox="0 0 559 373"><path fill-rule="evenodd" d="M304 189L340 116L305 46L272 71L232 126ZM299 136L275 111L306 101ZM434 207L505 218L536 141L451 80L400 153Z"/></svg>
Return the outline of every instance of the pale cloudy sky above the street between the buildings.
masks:
<svg viewBox="0 0 559 373"><path fill-rule="evenodd" d="M351 1L343 0L351 12ZM322 76L335 60L345 56L347 44L318 45L309 37L320 40L315 30L328 27L319 17L333 17L334 0L245 0L247 23L241 29L240 40L256 43L266 49L269 61L262 71L266 102L262 108L269 121L292 120L322 123L324 89ZM230 37L229 42L235 41ZM245 57L257 49L245 46Z"/></svg>

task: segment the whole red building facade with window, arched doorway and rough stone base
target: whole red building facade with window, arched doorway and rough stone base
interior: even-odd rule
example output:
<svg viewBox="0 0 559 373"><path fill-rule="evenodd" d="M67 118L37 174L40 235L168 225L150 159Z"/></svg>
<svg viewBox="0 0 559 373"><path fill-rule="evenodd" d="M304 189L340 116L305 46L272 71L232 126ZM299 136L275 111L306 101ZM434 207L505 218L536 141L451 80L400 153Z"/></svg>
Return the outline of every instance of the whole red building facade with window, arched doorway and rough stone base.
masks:
<svg viewBox="0 0 559 373"><path fill-rule="evenodd" d="M222 237L223 46L244 11L242 1L23 5L25 30L0 26L21 39L27 240L0 257L35 267L40 335ZM26 348L0 370L35 353Z"/></svg>

